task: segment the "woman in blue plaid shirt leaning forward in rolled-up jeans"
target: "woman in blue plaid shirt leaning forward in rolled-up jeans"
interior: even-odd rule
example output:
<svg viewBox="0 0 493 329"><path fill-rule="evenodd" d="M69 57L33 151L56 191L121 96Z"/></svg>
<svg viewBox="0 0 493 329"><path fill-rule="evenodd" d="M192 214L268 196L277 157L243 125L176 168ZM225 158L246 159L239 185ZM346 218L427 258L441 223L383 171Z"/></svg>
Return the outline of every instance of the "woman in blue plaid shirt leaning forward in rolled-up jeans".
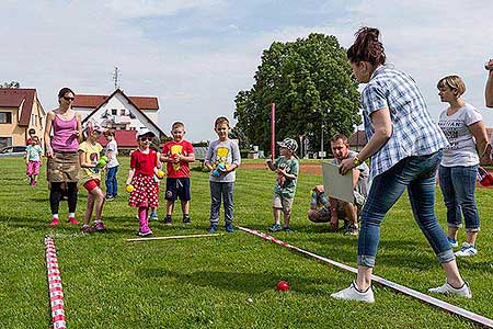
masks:
<svg viewBox="0 0 493 329"><path fill-rule="evenodd" d="M344 174L371 158L371 188L362 211L358 239L358 273L349 287L332 294L340 299L372 303L371 273L375 266L380 224L405 189L414 218L442 263L447 280L432 293L470 298L469 285L457 269L447 237L435 217L435 174L442 149L448 145L434 123L416 82L406 73L387 67L379 31L363 27L347 49L354 76L367 83L362 92L368 144L357 157L341 163Z"/></svg>

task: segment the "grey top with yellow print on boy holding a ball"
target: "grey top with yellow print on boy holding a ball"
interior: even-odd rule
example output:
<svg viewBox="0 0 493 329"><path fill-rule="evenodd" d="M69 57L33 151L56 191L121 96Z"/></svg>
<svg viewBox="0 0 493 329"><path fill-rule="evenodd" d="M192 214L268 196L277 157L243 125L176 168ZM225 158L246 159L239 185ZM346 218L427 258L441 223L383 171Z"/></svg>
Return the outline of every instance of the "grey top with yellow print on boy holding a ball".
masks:
<svg viewBox="0 0 493 329"><path fill-rule="evenodd" d="M210 145L207 148L205 163L209 163L213 167L216 167L219 163L223 163L226 166L231 164L240 166L241 163L240 148L231 139L225 141L220 140L210 141ZM209 177L209 181L218 183L234 182L236 179L237 179L236 170L230 171L226 174L221 173L219 177L215 175Z"/></svg>

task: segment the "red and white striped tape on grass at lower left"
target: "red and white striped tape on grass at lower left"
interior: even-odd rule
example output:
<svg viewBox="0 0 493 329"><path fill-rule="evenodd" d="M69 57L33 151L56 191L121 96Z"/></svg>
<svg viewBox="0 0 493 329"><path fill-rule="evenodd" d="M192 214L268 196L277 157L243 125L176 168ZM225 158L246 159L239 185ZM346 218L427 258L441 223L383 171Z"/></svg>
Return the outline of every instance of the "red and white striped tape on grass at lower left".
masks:
<svg viewBox="0 0 493 329"><path fill-rule="evenodd" d="M50 237L45 238L45 246L53 328L66 329L67 322L64 310L64 288L61 286L60 270L58 268L57 251Z"/></svg>

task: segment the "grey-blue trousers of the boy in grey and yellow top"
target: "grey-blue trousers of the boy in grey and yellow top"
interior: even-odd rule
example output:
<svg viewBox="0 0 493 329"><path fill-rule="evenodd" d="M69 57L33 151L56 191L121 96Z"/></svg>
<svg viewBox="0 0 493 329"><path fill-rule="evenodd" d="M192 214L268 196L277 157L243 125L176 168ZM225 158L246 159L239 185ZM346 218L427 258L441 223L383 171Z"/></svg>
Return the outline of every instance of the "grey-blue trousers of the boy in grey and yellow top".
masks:
<svg viewBox="0 0 493 329"><path fill-rule="evenodd" d="M217 225L219 222L219 209L221 207L221 197L225 203L225 222L231 224L233 220L233 196L234 196L234 182L210 183L210 224Z"/></svg>

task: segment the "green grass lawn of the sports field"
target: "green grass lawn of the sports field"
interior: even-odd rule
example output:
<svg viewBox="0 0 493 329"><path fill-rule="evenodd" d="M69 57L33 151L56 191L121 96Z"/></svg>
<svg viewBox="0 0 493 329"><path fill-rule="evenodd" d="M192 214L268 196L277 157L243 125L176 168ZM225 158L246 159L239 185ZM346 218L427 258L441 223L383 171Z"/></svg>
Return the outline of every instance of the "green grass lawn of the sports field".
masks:
<svg viewBox="0 0 493 329"><path fill-rule="evenodd" d="M122 162L121 183L127 174L128 159ZM238 230L217 238L125 242L135 236L138 222L136 211L127 206L122 184L119 197L104 207L107 234L84 236L65 220L50 228L45 180L41 179L35 189L28 186L22 159L1 159L0 168L0 328L49 328L44 250L47 234L56 235L69 328L474 327L379 285L375 286L374 305L333 300L329 295L346 287L353 274ZM45 169L42 167L43 172ZM328 232L326 226L306 218L309 190L320 181L318 175L300 175L293 214L296 232L276 237L355 266L355 237ZM273 184L274 174L267 170L238 171L236 224L266 230L272 223ZM437 215L444 225L445 209L437 194ZM206 173L192 171L192 196L193 224L164 227L153 222L154 236L205 232L210 204ZM492 190L478 190L483 219L479 254L459 260L474 297L443 297L489 318L493 318L491 200ZM84 209L85 193L81 190L79 219ZM66 214L67 204L62 202L62 219ZM159 214L162 218L163 208ZM174 219L179 222L180 216ZM463 231L459 238L463 241ZM420 292L444 281L405 197L383 222L375 274ZM275 291L279 280L290 283L288 293Z"/></svg>

